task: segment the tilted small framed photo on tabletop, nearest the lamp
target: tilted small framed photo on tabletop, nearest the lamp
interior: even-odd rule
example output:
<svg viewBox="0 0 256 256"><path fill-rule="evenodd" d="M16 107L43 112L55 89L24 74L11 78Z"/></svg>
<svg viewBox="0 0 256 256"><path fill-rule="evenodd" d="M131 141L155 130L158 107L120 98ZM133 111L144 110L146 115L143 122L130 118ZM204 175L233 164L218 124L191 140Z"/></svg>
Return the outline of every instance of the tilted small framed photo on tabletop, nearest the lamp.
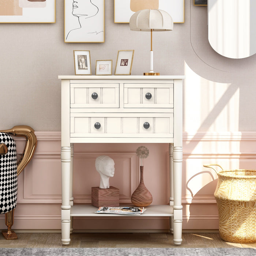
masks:
<svg viewBox="0 0 256 256"><path fill-rule="evenodd" d="M131 75L134 50L118 50L115 75Z"/></svg>

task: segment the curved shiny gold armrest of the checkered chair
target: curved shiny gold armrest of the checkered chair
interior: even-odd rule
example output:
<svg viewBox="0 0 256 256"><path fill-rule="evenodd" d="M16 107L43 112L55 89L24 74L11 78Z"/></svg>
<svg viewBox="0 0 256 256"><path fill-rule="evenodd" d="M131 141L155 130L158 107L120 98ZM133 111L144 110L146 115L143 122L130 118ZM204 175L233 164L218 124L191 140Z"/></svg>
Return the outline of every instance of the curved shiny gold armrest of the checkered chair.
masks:
<svg viewBox="0 0 256 256"><path fill-rule="evenodd" d="M26 144L23 153L18 161L17 176L22 172L26 165L30 162L37 147L37 137L35 131L27 125L17 125L8 130L0 132L11 133L14 136L25 137Z"/></svg>

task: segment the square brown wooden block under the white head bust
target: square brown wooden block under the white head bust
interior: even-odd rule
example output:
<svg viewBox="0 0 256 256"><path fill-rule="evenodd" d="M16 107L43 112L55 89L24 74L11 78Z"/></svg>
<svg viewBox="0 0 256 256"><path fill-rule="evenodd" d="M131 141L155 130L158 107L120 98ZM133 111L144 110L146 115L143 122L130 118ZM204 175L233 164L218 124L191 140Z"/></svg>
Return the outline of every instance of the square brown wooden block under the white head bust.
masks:
<svg viewBox="0 0 256 256"><path fill-rule="evenodd" d="M100 206L119 206L119 188L110 186L109 188L91 188L91 204Z"/></svg>

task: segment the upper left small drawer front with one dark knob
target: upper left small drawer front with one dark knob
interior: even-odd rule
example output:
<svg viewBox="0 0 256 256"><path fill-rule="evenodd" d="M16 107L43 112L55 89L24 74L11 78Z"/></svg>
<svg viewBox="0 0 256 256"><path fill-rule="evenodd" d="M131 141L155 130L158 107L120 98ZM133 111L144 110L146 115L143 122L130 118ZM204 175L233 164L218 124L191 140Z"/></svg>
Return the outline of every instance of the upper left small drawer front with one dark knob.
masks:
<svg viewBox="0 0 256 256"><path fill-rule="evenodd" d="M119 108L119 84L70 84L71 108Z"/></svg>

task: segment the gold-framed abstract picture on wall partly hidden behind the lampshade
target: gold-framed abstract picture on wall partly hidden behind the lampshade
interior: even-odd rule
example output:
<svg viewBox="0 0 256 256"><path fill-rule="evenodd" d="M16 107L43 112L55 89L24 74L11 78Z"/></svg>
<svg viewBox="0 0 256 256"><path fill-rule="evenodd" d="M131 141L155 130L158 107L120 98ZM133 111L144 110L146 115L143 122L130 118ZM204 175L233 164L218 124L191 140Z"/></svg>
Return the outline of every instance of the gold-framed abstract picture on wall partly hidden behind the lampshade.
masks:
<svg viewBox="0 0 256 256"><path fill-rule="evenodd" d="M158 8L155 8L156 1ZM152 1L147 0L147 3L150 2ZM137 11L133 9L133 3L137 4L138 0L114 0L114 23L129 23L131 16ZM146 7L148 6L146 5ZM184 23L184 0L154 0L152 7L142 8L166 11L172 16L174 23Z"/></svg>

